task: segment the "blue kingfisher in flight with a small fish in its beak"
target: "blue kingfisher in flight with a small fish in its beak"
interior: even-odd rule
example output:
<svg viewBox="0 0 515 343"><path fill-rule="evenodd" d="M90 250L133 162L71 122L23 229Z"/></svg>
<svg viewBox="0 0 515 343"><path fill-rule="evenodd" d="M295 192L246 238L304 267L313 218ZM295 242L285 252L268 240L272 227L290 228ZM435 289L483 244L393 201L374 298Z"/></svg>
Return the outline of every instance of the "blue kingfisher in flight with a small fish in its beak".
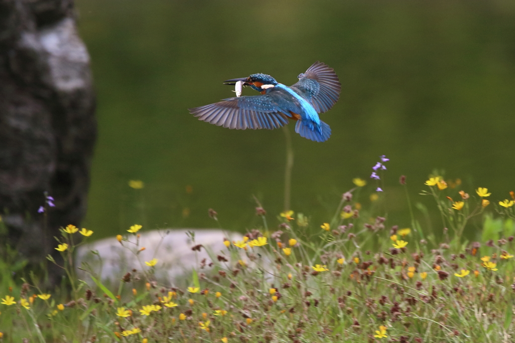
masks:
<svg viewBox="0 0 515 343"><path fill-rule="evenodd" d="M295 120L295 132L304 138L323 142L331 136L329 125L318 114L338 101L341 83L334 69L315 62L291 86L266 74L231 79L224 84L250 86L261 95L237 96L213 104L188 109L199 120L224 128L277 129Z"/></svg>

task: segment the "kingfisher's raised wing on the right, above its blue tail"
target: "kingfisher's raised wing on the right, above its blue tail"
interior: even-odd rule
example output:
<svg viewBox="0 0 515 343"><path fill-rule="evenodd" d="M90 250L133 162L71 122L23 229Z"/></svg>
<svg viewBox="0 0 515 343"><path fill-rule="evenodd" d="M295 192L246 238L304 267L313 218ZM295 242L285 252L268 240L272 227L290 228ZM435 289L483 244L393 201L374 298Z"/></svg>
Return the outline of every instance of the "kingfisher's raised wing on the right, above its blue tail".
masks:
<svg viewBox="0 0 515 343"><path fill-rule="evenodd" d="M323 113L338 101L341 83L333 68L317 61L304 74L299 75L299 82L290 88L311 101L317 113Z"/></svg>

